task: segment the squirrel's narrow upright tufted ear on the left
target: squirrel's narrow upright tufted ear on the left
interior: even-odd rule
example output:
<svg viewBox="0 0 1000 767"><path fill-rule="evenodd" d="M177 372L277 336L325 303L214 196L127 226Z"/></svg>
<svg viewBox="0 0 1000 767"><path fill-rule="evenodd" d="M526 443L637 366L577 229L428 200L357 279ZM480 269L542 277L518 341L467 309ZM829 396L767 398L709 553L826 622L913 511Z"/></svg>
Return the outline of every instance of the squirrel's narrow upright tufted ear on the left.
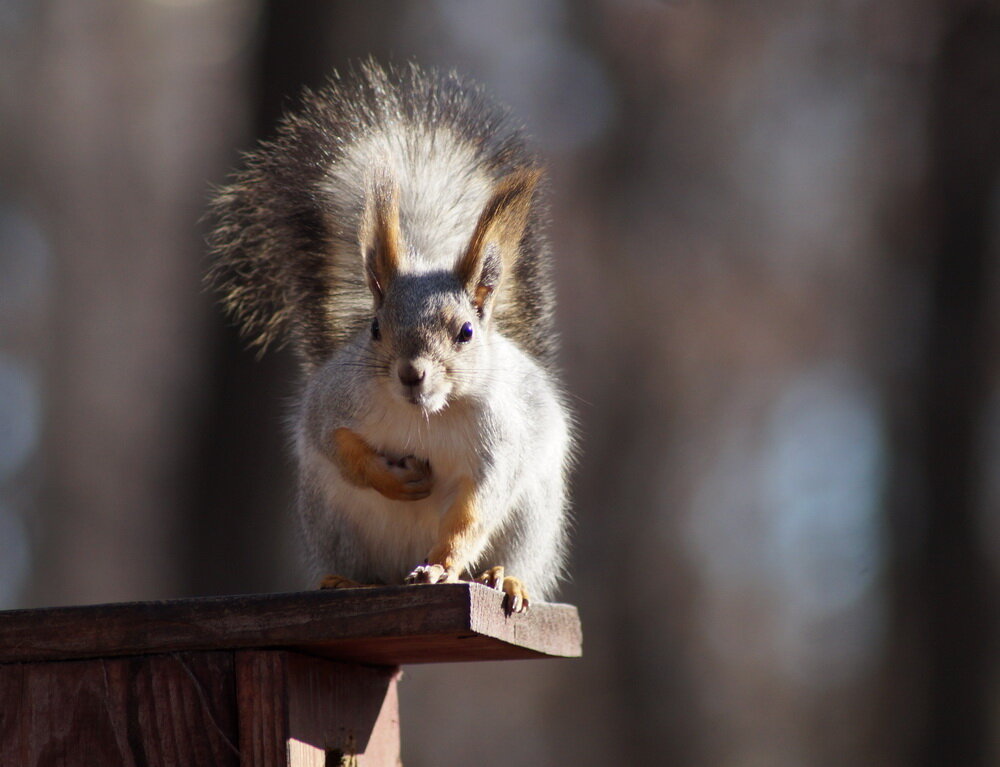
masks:
<svg viewBox="0 0 1000 767"><path fill-rule="evenodd" d="M380 306L389 283L399 272L399 191L396 183L381 171L368 185L365 210L358 232L361 258L368 289Z"/></svg>

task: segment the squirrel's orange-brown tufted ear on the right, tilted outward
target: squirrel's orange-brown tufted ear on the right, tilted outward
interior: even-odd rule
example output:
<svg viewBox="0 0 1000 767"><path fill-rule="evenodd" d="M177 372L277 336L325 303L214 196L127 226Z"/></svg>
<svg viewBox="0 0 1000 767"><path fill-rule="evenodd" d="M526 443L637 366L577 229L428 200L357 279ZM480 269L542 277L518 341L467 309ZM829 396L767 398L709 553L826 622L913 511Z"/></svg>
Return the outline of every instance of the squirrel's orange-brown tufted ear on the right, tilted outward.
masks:
<svg viewBox="0 0 1000 767"><path fill-rule="evenodd" d="M485 316L500 280L517 258L531 212L531 200L542 176L537 168L516 170L500 179L483 208L455 273Z"/></svg>

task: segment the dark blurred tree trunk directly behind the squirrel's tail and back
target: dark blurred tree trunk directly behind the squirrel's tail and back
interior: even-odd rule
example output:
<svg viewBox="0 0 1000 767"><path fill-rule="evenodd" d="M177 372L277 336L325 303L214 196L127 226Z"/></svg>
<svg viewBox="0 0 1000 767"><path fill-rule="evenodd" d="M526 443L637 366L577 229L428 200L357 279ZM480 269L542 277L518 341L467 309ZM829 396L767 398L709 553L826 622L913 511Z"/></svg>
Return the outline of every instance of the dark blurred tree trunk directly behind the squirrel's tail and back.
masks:
<svg viewBox="0 0 1000 767"><path fill-rule="evenodd" d="M247 119L234 148L246 151L270 138L302 89L321 87L335 66L351 56L378 52L378 34L387 32L386 11L378 5L262 3L254 56L244 62ZM230 168L238 164L234 152ZM302 588L306 573L299 564L293 461L285 428L299 386L296 364L290 350L255 355L223 323L221 309L215 307L212 348L205 358L209 386L204 427L197 433L184 506L185 590Z"/></svg>

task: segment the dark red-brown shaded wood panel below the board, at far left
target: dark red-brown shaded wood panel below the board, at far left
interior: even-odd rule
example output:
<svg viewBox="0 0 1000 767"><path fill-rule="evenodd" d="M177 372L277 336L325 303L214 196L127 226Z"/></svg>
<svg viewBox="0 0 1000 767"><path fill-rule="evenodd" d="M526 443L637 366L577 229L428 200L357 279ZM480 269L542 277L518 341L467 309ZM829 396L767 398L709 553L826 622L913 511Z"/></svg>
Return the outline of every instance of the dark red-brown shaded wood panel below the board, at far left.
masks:
<svg viewBox="0 0 1000 767"><path fill-rule="evenodd" d="M0 764L235 767L233 654L0 665Z"/></svg>

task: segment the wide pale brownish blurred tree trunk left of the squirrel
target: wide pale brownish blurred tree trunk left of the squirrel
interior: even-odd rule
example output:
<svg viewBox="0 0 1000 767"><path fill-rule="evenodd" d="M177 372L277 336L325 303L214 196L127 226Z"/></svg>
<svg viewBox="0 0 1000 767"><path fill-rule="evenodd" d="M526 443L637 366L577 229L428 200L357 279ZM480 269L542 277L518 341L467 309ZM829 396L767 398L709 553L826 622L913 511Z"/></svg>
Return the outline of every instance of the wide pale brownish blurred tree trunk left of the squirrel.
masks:
<svg viewBox="0 0 1000 767"><path fill-rule="evenodd" d="M178 593L201 399L206 182L229 153L253 5L27 4L18 192L54 251L31 604ZM235 119L234 119L235 118Z"/></svg>

